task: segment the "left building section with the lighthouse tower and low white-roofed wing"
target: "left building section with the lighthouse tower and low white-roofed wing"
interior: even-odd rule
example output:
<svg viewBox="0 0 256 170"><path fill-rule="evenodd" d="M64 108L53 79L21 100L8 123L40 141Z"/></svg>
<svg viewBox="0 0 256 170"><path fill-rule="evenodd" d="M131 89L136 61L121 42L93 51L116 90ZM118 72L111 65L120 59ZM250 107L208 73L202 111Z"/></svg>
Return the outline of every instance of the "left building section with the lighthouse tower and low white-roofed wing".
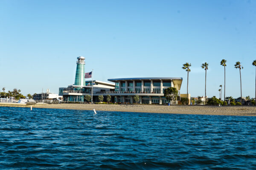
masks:
<svg viewBox="0 0 256 170"><path fill-rule="evenodd" d="M102 82L98 80L85 81L84 78L84 57L77 57L75 83L67 88L59 88L59 95L63 96L63 101L68 102L85 102L86 95L92 95L93 101L96 97L106 91L115 89L115 84Z"/></svg>

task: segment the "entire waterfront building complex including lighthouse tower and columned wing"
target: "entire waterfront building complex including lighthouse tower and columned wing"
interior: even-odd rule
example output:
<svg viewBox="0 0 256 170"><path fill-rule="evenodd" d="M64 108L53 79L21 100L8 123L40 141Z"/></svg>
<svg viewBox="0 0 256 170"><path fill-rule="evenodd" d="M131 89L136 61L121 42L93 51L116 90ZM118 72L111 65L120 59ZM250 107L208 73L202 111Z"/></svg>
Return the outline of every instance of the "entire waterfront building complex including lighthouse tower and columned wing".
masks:
<svg viewBox="0 0 256 170"><path fill-rule="evenodd" d="M59 88L59 96L63 96L63 101L85 102L85 96L92 95L93 102L98 102L99 95L104 96L104 101L107 95L111 95L111 102L134 103L134 96L137 95L141 104L166 104L168 101L164 97L164 90L169 87L177 89L178 100L182 95L180 94L183 80L181 77L108 79L110 82L85 81L84 59L77 57L75 83L68 85L67 88ZM177 104L177 101L172 104Z"/></svg>

